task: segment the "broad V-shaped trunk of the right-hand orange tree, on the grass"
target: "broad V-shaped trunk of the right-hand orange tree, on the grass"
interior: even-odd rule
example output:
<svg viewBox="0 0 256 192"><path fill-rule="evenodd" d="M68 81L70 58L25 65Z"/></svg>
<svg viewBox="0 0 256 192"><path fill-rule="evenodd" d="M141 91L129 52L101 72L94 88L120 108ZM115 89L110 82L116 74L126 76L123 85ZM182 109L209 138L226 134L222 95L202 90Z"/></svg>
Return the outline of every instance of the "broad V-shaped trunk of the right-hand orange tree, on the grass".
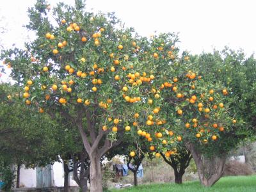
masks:
<svg viewBox="0 0 256 192"><path fill-rule="evenodd" d="M225 154L206 157L204 154L200 154L193 144L189 143L186 147L190 150L196 163L200 183L207 187L214 185L223 175L226 161Z"/></svg>

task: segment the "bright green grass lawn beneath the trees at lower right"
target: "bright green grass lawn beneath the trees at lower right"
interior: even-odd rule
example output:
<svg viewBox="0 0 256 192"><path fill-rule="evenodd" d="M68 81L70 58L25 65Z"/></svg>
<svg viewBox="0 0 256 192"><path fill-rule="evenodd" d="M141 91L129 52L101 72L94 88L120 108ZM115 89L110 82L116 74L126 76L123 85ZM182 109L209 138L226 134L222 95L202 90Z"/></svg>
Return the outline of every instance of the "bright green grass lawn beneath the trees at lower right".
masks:
<svg viewBox="0 0 256 192"><path fill-rule="evenodd" d="M176 184L147 184L137 188L112 189L111 192L170 192L170 191L214 191L214 192L255 192L256 191L256 175L223 177L211 188L204 188L198 181L184 182L182 185Z"/></svg>

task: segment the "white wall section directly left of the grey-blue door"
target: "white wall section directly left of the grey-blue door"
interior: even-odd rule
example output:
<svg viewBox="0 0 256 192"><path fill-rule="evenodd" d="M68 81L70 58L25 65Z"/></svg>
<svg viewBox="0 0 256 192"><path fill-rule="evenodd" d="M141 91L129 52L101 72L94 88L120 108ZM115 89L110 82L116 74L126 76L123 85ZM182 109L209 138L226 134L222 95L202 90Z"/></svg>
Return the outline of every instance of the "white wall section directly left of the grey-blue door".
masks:
<svg viewBox="0 0 256 192"><path fill-rule="evenodd" d="M20 168L20 187L36 188L36 169Z"/></svg>

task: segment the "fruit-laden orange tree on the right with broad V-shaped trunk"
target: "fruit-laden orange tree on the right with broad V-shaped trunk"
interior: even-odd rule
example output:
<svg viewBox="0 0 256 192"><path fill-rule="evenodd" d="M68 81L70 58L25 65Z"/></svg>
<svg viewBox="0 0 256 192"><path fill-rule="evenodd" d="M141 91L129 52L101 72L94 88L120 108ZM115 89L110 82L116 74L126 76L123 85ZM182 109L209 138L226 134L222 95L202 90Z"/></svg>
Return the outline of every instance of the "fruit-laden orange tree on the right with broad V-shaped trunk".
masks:
<svg viewBox="0 0 256 192"><path fill-rule="evenodd" d="M246 137L239 126L242 121L237 122L228 108L234 102L234 98L227 97L232 90L221 81L204 81L200 68L189 61L186 52L173 63L159 61L158 67L163 68L161 65L168 68L155 75L163 77L156 90L163 98L160 113L168 129L158 133L162 143L157 148L168 157L173 154L170 148L186 145L200 182L212 186L223 173L228 152ZM168 135L172 137L168 139Z"/></svg>

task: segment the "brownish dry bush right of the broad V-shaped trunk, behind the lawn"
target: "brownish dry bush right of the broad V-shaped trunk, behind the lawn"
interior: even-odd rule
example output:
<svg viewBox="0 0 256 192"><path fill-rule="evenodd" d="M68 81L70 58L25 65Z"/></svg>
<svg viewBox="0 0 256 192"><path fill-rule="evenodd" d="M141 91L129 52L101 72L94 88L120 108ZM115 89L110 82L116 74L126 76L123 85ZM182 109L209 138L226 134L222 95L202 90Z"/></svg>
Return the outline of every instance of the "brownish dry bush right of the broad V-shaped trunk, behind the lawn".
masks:
<svg viewBox="0 0 256 192"><path fill-rule="evenodd" d="M253 171L250 165L240 163L239 161L230 161L226 164L224 175L252 175Z"/></svg>

